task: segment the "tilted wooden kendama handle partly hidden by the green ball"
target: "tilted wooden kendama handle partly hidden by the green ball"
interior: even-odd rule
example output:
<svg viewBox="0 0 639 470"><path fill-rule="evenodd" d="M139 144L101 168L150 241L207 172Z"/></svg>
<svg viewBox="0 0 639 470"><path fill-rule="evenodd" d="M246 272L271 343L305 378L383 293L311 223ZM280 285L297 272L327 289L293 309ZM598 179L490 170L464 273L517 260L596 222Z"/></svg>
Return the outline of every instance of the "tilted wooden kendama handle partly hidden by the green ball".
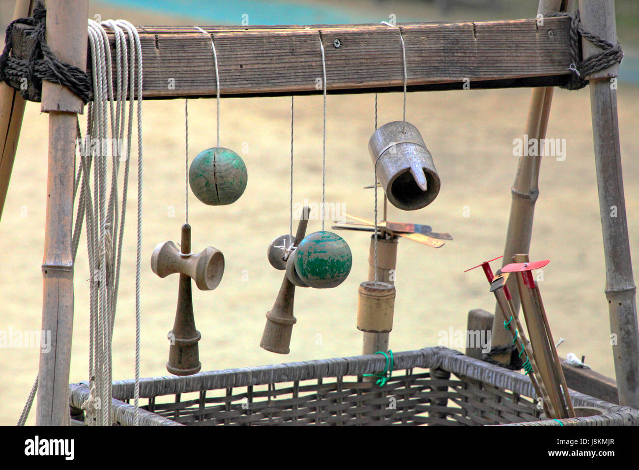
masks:
<svg viewBox="0 0 639 470"><path fill-rule="evenodd" d="M275 238L268 246L268 260L275 269L287 269L289 256L306 234L309 213L308 207L302 209L302 217L297 226L295 238L290 235L282 235ZM290 351L293 325L297 322L293 316L296 285L298 284L289 280L288 273L284 274L273 308L266 312L266 325L259 346L267 351L277 352L277 354L288 354Z"/></svg>

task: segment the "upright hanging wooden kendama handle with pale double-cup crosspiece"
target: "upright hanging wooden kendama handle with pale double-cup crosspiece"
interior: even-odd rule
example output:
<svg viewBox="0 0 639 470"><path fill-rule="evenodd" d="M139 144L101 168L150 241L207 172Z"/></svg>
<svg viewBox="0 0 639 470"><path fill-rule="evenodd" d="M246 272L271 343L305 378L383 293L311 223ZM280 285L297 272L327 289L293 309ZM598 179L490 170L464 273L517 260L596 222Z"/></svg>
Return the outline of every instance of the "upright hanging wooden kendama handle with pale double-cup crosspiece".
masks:
<svg viewBox="0 0 639 470"><path fill-rule="evenodd" d="M160 278L180 274L178 306L173 329L169 331L169 361L166 368L175 375L192 375L199 372L197 346L201 334L196 329L191 294L191 279L200 290L213 290L224 274L224 255L212 246L200 253L191 253L191 226L182 226L180 250L173 242L158 244L151 255L151 270Z"/></svg>

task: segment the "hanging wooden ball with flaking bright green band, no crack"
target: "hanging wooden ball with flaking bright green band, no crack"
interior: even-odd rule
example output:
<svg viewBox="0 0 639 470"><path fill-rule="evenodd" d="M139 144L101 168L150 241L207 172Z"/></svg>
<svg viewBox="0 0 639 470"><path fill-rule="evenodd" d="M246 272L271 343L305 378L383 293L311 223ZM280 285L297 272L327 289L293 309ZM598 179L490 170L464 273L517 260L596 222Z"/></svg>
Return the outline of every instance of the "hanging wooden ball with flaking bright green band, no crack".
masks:
<svg viewBox="0 0 639 470"><path fill-rule="evenodd" d="M332 231L316 231L304 238L296 249L295 270L307 285L318 288L339 286L353 265L351 249Z"/></svg>

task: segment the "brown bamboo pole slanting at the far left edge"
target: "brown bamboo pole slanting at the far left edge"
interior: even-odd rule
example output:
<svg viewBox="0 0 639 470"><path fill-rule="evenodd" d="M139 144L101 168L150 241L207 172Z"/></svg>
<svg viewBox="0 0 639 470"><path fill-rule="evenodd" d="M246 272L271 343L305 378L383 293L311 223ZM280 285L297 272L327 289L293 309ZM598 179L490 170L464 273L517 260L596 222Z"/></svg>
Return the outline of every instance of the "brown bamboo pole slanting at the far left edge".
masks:
<svg viewBox="0 0 639 470"><path fill-rule="evenodd" d="M31 0L16 0L13 19L27 17L29 13ZM25 104L17 90L0 82L0 220L9 189Z"/></svg>

